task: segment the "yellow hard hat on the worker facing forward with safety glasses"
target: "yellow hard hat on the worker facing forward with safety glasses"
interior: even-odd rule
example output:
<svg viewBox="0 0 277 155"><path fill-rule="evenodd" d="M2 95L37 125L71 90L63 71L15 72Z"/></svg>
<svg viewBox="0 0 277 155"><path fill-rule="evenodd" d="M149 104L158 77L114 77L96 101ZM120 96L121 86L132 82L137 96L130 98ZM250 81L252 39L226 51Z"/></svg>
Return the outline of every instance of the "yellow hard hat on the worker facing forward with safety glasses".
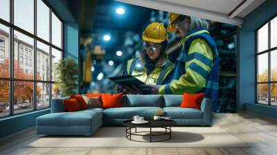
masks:
<svg viewBox="0 0 277 155"><path fill-rule="evenodd" d="M166 28L158 22L149 24L143 32L143 40L145 42L161 43L166 39L168 39Z"/></svg>

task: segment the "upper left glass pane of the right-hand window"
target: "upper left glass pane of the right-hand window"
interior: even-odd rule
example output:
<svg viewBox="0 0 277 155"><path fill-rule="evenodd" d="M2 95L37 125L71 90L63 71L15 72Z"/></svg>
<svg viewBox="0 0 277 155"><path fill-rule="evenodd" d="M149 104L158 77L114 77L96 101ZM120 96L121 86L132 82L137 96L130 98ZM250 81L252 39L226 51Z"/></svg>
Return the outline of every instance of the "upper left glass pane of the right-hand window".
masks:
<svg viewBox="0 0 277 155"><path fill-rule="evenodd" d="M258 30L258 53L268 49L268 24Z"/></svg>

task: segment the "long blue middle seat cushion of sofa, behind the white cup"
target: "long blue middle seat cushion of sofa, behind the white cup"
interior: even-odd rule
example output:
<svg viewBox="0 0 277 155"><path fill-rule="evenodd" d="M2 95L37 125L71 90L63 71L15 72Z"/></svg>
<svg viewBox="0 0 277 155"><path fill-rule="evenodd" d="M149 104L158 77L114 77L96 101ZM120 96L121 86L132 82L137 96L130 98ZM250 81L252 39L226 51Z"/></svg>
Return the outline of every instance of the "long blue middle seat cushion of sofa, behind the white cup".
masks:
<svg viewBox="0 0 277 155"><path fill-rule="evenodd" d="M109 108L103 111L103 118L113 119L132 119L133 116L139 115L147 119L152 118L157 111L163 110L160 107L121 107Z"/></svg>

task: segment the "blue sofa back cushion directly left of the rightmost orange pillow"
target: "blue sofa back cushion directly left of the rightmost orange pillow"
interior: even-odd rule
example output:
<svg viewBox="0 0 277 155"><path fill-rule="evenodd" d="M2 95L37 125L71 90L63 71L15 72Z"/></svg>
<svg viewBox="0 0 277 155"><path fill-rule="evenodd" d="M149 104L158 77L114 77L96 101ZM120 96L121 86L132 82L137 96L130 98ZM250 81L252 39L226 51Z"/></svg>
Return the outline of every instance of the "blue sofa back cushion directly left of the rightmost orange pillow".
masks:
<svg viewBox="0 0 277 155"><path fill-rule="evenodd" d="M183 100L183 95L163 95L163 107L179 107Z"/></svg>

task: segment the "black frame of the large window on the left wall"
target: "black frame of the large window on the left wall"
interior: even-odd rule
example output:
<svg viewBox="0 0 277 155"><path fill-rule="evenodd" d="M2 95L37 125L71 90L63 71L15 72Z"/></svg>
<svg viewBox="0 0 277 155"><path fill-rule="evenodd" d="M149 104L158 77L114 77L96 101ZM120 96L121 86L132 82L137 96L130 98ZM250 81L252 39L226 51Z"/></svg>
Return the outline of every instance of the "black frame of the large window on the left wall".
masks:
<svg viewBox="0 0 277 155"><path fill-rule="evenodd" d="M55 48L57 51L60 51L62 53L62 57L61 59L64 59L64 30L63 30L63 26L64 26L64 21L62 20L62 18L57 14L57 12L55 12L55 10L47 3L47 1L45 0L41 0L48 8L49 8L49 41L46 41L44 39L42 39L41 37L37 36L37 0L33 0L34 2L34 33L29 33L27 30L24 30L23 28L20 28L19 26L16 26L14 24L14 0L10 0L9 1L9 7L10 7L10 12L9 12L9 18L10 21L6 21L4 19L0 18L0 24L2 24L3 26L8 26L9 28L9 44L8 44L8 52L10 54L10 75L9 78L1 78L0 80L3 81L8 81L9 82L9 115L8 116L0 116L1 118L8 118L11 116L16 116L16 115L21 115L23 113L30 113L32 111L40 111L43 109L48 109L51 108L51 100L52 100L52 87L53 84L55 83L55 81L52 80L52 77L50 76L48 80L37 80L37 41L46 44L47 46L49 46L49 64L50 64L50 71L49 73L51 73L52 71L52 61L51 61L51 57L52 57L52 48ZM61 48L55 46L54 44L52 44L52 12L53 14L61 21ZM15 78L14 77L14 31L17 31L19 33L22 33L23 35L27 35L28 37L33 38L33 59L31 60L31 62L33 63L33 79L32 80L27 80L27 79L19 79L19 78ZM19 55L21 55L20 51L17 51L19 53ZM23 56L25 55L25 48L23 48ZM27 53L27 57L28 57L28 53ZM19 62L20 63L20 62ZM25 63L25 62L24 62ZM22 112L22 113L15 113L14 111L14 82L33 82L33 109L30 109L30 111L26 111L26 112ZM43 107L43 108L37 108L37 84L39 83L45 83L45 84L49 84L49 106L48 107Z"/></svg>

